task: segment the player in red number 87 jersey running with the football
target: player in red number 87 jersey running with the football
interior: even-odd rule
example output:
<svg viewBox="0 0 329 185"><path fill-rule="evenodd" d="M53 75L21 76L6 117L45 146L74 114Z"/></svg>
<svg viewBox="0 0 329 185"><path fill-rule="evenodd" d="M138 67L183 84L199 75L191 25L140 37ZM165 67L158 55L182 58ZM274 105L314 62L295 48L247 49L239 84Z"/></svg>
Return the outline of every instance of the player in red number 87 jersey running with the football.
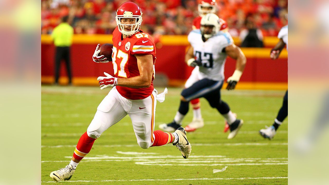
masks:
<svg viewBox="0 0 329 185"><path fill-rule="evenodd" d="M174 133L154 131L156 100L162 102L164 93L153 88L155 43L148 33L140 30L142 11L133 2L125 2L116 11L117 27L113 32L112 63L114 76L104 72L97 78L101 89L113 87L97 107L87 132L82 134L74 150L71 162L60 170L50 173L55 181L69 180L79 162L89 153L94 141L100 135L129 115L141 148L175 145L186 159L191 145L183 127ZM99 44L93 55L94 62L109 62L98 56Z"/></svg>

